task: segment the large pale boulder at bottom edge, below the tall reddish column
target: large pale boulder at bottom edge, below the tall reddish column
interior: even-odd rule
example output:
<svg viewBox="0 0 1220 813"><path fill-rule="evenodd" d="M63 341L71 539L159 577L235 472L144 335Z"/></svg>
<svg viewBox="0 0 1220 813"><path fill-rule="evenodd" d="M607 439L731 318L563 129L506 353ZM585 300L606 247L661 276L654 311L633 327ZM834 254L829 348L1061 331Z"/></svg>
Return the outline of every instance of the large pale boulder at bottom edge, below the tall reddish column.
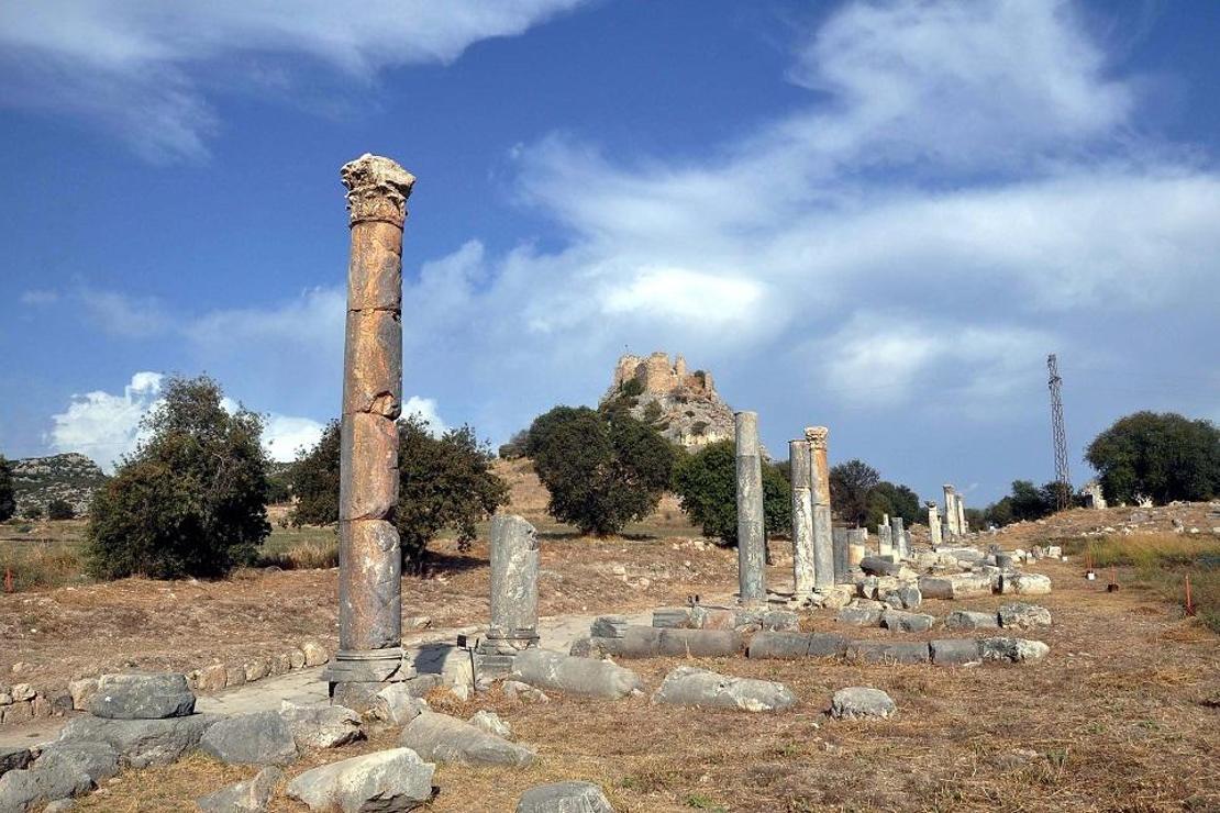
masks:
<svg viewBox="0 0 1220 813"><path fill-rule="evenodd" d="M366 753L314 768L288 783L288 796L316 813L395 813L432 798L436 765L410 748Z"/></svg>

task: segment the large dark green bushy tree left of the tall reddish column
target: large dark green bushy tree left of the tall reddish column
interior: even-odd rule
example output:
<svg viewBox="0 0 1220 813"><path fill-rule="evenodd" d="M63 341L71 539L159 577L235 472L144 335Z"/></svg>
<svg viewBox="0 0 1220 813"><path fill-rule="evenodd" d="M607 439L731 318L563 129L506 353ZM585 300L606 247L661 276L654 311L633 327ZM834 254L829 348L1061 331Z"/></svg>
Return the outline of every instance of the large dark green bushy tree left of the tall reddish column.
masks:
<svg viewBox="0 0 1220 813"><path fill-rule="evenodd" d="M206 375L166 384L148 440L94 494L94 575L215 577L254 559L271 530L262 419L222 396Z"/></svg>

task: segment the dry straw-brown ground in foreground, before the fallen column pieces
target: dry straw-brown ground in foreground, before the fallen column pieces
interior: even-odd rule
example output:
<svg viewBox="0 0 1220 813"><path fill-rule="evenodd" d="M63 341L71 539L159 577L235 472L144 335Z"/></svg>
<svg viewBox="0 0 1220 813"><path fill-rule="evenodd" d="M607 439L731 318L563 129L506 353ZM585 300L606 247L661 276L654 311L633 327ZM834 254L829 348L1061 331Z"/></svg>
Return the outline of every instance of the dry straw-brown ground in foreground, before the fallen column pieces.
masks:
<svg viewBox="0 0 1220 813"><path fill-rule="evenodd" d="M650 542L637 550L664 549ZM429 809L511 811L525 789L559 779L600 783L622 813L1220 809L1220 639L1142 590L1105 592L1080 578L1076 564L1031 569L1055 584L1039 597L1054 627L1030 635L1052 646L1038 664L694 661L788 684L800 703L778 714L658 707L647 696L608 702L554 695L547 705L520 705L498 694L466 703L434 695L439 711L462 717L494 709L542 759L520 773L442 767ZM928 601L925 608L943 616L1002 601ZM815 616L813 627L832 629L831 613ZM680 662L625 663L651 691ZM899 713L883 722L830 720L831 695L852 685L886 690ZM389 733L344 754L392 745ZM316 754L289 774L336 756ZM187 811L189 800L253 773L194 757L124 773L79 809ZM279 796L273 809L304 808Z"/></svg>

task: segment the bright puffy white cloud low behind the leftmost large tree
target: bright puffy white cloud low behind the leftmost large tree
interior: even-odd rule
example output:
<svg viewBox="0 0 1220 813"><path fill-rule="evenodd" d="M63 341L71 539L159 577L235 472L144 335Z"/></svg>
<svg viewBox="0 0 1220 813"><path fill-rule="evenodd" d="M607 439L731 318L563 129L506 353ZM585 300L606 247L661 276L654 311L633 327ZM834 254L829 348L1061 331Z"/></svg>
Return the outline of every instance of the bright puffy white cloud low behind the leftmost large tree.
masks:
<svg viewBox="0 0 1220 813"><path fill-rule="evenodd" d="M104 470L135 449L140 419L156 402L161 374L132 375L122 395L101 390L73 395L67 410L51 416L49 445L56 452L81 452Z"/></svg>

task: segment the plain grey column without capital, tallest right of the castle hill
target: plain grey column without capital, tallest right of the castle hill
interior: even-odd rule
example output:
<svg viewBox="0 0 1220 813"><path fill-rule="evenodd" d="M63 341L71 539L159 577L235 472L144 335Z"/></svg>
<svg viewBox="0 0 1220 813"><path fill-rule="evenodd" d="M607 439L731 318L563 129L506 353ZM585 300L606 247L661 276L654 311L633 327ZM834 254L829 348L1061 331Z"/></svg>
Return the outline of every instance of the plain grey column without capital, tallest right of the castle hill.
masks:
<svg viewBox="0 0 1220 813"><path fill-rule="evenodd" d="M762 457L758 412L733 416L737 434L737 579L743 605L766 603Z"/></svg>

